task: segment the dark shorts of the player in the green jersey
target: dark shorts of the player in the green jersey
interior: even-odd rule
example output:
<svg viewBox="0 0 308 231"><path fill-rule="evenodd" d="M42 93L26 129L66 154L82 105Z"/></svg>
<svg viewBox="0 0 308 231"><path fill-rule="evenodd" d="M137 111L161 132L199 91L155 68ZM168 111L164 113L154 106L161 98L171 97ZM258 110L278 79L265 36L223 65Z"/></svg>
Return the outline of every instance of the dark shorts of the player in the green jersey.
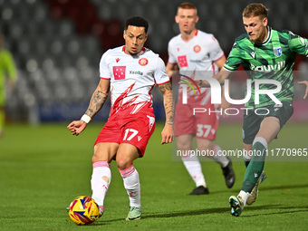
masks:
<svg viewBox="0 0 308 231"><path fill-rule="evenodd" d="M278 118L281 130L284 123L292 116L293 111L293 106L289 101L283 101L282 106L273 104L259 109L246 110L243 122L243 142L245 144L253 143L265 117L274 116Z"/></svg>

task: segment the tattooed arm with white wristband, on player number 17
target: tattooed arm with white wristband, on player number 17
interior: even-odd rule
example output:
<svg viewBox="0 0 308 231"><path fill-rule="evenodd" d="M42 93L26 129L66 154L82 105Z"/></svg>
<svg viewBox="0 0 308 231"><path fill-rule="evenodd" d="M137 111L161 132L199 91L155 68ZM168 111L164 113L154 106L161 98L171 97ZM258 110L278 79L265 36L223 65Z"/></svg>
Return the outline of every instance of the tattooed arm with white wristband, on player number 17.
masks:
<svg viewBox="0 0 308 231"><path fill-rule="evenodd" d="M110 81L101 79L99 85L91 96L89 107L85 112L86 117L93 119L97 112L101 110L102 106L108 98L109 89ZM71 130L72 135L76 136L78 136L86 127L87 123L84 120L74 120L67 126L67 128Z"/></svg>

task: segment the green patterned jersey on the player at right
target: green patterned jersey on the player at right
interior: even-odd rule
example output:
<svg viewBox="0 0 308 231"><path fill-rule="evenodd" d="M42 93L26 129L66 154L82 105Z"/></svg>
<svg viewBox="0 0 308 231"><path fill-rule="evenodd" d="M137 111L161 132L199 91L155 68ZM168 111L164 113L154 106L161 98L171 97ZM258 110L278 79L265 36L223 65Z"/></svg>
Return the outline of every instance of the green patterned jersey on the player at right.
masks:
<svg viewBox="0 0 308 231"><path fill-rule="evenodd" d="M294 99L294 61L296 53L308 55L308 40L287 30L268 28L264 43L253 43L248 34L236 38L224 68L234 72L242 63L245 72L252 80L252 95L245 103L246 108L259 108L274 104L266 94L260 94L259 104L255 105L255 80L275 80L281 83L282 90L274 93L279 101ZM274 84L260 84L259 89L276 89Z"/></svg>

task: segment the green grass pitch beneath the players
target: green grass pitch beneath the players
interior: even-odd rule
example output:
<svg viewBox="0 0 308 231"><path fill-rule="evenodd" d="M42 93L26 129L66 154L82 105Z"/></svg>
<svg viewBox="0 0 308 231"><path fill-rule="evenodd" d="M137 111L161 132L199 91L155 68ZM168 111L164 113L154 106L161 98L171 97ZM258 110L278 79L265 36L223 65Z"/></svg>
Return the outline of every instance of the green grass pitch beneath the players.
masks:
<svg viewBox="0 0 308 231"><path fill-rule="evenodd" d="M129 200L120 173L111 164L105 214L91 226L76 226L65 210L72 199L91 196L92 143L101 124L91 123L79 137L65 124L7 125L0 139L0 230L306 230L308 162L269 161L268 178L255 204L231 217L228 197L241 188L245 166L235 161L236 184L227 189L221 169L202 162L210 194L187 196L194 188L183 164L173 161L171 145L160 145L161 125L149 141L140 173L143 216L124 218ZM308 148L307 124L289 123L270 148ZM221 124L217 143L241 149L241 125Z"/></svg>

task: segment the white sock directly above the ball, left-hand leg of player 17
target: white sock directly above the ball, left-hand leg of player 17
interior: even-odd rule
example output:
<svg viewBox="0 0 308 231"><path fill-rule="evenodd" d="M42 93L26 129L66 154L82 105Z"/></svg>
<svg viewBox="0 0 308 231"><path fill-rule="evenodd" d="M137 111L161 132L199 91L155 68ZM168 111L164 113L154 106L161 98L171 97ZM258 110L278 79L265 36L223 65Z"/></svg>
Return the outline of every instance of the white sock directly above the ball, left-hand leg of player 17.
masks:
<svg viewBox="0 0 308 231"><path fill-rule="evenodd" d="M107 161L97 161L93 163L93 172L91 176L92 198L99 206L103 202L111 184L111 168Z"/></svg>

